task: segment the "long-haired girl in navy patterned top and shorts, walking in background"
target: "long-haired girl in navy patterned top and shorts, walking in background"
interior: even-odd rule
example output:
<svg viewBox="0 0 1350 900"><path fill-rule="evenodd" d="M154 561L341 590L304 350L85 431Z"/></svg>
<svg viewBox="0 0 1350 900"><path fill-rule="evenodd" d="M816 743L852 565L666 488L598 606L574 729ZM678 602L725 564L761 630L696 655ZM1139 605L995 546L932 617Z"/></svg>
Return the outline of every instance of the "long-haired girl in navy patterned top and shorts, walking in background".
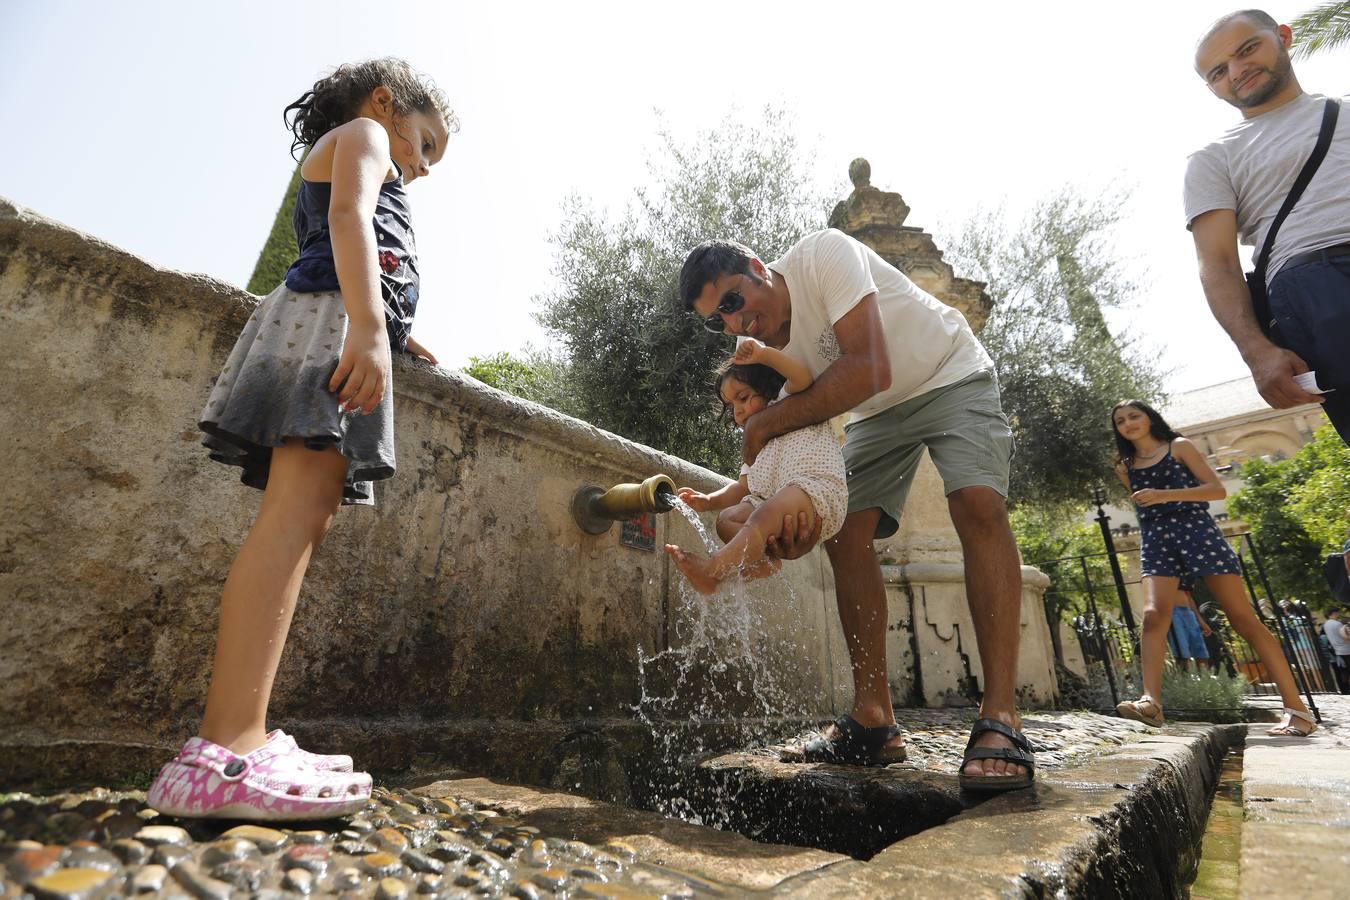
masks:
<svg viewBox="0 0 1350 900"><path fill-rule="evenodd" d="M1139 637L1143 695L1115 707L1127 719L1162 725L1162 653L1180 576L1203 578L1228 623L1261 654L1280 688L1284 721L1269 734L1305 737L1316 727L1299 698L1280 642L1257 618L1242 587L1238 557L1210 515L1208 501L1227 495L1195 444L1177 434L1148 403L1127 399L1111 410L1116 475L1139 514L1139 572L1143 634Z"/></svg>

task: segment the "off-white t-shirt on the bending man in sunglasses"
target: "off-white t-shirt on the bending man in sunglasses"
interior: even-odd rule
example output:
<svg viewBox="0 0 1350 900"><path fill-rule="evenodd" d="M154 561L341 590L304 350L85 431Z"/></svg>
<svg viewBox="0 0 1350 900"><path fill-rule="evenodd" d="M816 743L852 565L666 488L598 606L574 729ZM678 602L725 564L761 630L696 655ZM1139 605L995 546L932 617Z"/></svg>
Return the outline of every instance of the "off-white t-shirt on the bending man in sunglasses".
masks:
<svg viewBox="0 0 1350 900"><path fill-rule="evenodd" d="M787 282L792 324L783 352L819 378L840 358L834 322L876 294L891 387L859 403L859 421L946 385L992 370L994 360L975 339L959 309L911 282L867 244L828 228L807 235L768 264Z"/></svg>

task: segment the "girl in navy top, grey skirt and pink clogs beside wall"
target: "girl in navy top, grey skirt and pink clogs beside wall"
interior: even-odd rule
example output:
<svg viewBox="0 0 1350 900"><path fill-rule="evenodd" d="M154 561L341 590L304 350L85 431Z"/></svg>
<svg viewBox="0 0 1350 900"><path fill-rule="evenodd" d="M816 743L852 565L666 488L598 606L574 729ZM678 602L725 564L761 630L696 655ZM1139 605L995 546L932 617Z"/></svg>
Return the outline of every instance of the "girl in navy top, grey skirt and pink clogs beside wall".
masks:
<svg viewBox="0 0 1350 900"><path fill-rule="evenodd" d="M429 173L458 123L401 59L339 66L286 108L306 148L300 258L244 325L200 426L212 459L263 490L225 579L198 737L165 765L150 806L256 820L348 815L370 776L267 733L267 703L305 569L346 503L394 474L390 351L409 337L418 278L404 185Z"/></svg>

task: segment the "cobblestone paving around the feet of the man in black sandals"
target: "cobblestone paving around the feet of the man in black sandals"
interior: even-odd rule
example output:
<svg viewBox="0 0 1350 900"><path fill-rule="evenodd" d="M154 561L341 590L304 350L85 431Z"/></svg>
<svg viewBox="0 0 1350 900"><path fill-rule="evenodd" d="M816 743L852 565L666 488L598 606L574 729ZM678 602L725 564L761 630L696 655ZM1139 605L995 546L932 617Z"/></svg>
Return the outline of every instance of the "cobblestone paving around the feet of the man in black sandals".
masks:
<svg viewBox="0 0 1350 900"><path fill-rule="evenodd" d="M905 733L909 754L905 762L894 762L892 769L925 769L953 773L961 764L965 742L975 722L972 710L896 710L895 721ZM1085 757L1104 753L1139 737L1152 729L1096 712L1027 712L1022 716L1022 731L1035 746L1038 769L1062 769ZM801 756L801 742L814 731L798 738L764 748L757 753L791 762Z"/></svg>

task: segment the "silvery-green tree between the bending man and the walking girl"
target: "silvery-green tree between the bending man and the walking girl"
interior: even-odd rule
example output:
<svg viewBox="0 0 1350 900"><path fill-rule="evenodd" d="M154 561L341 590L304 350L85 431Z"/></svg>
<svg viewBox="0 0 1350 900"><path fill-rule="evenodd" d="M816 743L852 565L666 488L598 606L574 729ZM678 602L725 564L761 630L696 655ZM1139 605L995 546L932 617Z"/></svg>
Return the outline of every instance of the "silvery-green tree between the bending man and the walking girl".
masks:
<svg viewBox="0 0 1350 900"><path fill-rule="evenodd" d="M956 269L987 282L994 298L980 340L1017 439L1014 505L1081 503L1099 483L1118 490L1111 407L1162 393L1156 356L1112 333L1104 316L1138 291L1111 246L1126 200L1065 190L1015 227L1002 210L980 213L945 242Z"/></svg>

